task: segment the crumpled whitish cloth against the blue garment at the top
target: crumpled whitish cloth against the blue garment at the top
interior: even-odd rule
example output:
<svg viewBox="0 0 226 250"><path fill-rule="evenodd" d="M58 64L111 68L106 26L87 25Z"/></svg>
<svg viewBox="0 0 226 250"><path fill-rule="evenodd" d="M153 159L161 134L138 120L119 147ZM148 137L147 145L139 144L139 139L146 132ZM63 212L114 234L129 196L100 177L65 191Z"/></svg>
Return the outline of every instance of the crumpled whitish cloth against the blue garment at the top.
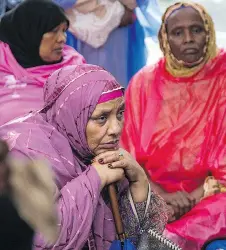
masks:
<svg viewBox="0 0 226 250"><path fill-rule="evenodd" d="M119 1L100 0L98 8L86 14L79 12L75 5L67 11L70 20L69 31L81 41L99 48L119 26L124 12L125 8Z"/></svg>

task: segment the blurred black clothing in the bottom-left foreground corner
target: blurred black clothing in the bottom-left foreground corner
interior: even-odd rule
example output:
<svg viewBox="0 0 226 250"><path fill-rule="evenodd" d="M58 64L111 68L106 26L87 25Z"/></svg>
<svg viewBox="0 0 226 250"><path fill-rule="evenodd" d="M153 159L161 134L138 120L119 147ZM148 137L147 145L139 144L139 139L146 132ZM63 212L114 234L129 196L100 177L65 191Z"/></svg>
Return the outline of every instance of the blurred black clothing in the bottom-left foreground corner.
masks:
<svg viewBox="0 0 226 250"><path fill-rule="evenodd" d="M19 217L11 200L0 195L0 249L32 250L33 230Z"/></svg>

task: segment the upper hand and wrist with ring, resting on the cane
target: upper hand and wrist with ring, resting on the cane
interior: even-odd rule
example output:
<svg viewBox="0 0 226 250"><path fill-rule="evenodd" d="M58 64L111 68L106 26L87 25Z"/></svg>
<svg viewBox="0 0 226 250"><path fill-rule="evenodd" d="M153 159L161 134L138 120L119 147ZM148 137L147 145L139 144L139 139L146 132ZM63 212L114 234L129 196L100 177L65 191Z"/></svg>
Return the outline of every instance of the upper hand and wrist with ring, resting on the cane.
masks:
<svg viewBox="0 0 226 250"><path fill-rule="evenodd" d="M112 170L123 169L130 183L130 191L134 202L147 199L149 181L143 168L124 149L101 153L94 159L100 164L107 164Z"/></svg>

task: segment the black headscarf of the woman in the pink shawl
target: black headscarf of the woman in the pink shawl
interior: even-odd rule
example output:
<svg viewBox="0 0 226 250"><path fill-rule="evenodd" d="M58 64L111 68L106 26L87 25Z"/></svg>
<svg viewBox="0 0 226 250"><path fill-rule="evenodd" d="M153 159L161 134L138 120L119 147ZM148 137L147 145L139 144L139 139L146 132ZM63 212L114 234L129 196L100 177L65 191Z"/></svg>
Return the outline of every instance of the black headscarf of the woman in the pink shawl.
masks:
<svg viewBox="0 0 226 250"><path fill-rule="evenodd" d="M0 22L0 41L7 43L24 68L49 64L39 56L43 34L69 21L51 0L25 0L7 12Z"/></svg>

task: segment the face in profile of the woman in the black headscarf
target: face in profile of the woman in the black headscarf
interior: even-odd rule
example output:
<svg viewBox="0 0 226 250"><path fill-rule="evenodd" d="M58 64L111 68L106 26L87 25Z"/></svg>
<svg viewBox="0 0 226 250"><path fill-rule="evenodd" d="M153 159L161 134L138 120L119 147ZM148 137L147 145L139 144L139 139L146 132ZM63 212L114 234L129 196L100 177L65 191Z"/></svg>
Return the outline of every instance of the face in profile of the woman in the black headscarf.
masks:
<svg viewBox="0 0 226 250"><path fill-rule="evenodd" d="M66 43L67 28L67 23L64 22L42 36L39 55L44 62L60 61L63 55L63 47Z"/></svg>

